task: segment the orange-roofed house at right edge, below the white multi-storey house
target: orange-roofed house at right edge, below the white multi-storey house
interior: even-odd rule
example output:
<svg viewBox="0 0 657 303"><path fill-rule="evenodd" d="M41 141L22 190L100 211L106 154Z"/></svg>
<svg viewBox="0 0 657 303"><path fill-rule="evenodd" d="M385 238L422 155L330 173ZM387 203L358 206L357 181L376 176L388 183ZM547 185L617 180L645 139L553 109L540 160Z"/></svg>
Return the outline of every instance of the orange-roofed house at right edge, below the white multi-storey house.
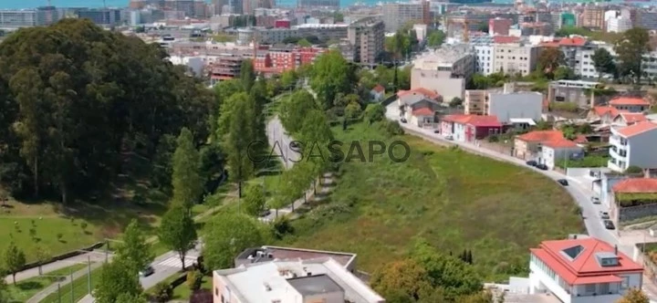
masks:
<svg viewBox="0 0 657 303"><path fill-rule="evenodd" d="M612 187L611 218L620 225L657 215L657 179L629 178Z"/></svg>

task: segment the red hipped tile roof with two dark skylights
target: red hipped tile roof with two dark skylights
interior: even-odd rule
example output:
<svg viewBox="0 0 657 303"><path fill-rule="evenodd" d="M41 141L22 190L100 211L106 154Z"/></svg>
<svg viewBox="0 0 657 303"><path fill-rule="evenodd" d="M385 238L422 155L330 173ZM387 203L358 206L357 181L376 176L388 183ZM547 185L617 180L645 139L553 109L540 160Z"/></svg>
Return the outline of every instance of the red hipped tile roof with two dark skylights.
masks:
<svg viewBox="0 0 657 303"><path fill-rule="evenodd" d="M579 254L568 257L563 251L580 246ZM569 285L618 282L617 274L641 273L643 267L614 247L596 238L543 241L540 248L530 249L534 256L563 278ZM596 253L610 253L618 257L618 266L600 266Z"/></svg>

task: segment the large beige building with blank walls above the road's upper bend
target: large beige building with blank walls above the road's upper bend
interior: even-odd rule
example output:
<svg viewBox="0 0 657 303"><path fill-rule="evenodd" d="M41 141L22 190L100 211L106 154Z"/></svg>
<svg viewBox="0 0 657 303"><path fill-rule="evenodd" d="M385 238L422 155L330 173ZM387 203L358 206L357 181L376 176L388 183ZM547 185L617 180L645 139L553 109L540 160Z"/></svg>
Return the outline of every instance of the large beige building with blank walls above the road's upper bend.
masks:
<svg viewBox="0 0 657 303"><path fill-rule="evenodd" d="M474 74L475 56L469 45L444 46L423 54L413 62L411 89L431 89L445 102L463 99L465 83Z"/></svg>

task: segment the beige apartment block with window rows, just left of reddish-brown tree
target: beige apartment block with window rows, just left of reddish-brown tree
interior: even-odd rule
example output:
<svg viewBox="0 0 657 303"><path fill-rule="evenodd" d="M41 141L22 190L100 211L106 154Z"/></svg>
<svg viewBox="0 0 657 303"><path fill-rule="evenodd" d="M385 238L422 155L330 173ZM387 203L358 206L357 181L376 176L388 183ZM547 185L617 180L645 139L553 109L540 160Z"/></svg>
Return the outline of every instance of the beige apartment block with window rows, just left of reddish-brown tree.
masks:
<svg viewBox="0 0 657 303"><path fill-rule="evenodd" d="M529 75L537 65L540 47L522 42L495 44L495 71L505 74Z"/></svg>

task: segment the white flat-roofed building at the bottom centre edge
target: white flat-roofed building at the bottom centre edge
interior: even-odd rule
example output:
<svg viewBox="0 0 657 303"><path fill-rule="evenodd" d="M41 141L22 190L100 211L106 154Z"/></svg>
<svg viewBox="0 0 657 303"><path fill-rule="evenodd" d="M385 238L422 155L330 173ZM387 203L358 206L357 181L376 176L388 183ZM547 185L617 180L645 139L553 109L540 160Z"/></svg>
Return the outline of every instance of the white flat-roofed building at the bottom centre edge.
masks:
<svg viewBox="0 0 657 303"><path fill-rule="evenodd" d="M256 262L213 272L214 302L385 302L331 257Z"/></svg>

